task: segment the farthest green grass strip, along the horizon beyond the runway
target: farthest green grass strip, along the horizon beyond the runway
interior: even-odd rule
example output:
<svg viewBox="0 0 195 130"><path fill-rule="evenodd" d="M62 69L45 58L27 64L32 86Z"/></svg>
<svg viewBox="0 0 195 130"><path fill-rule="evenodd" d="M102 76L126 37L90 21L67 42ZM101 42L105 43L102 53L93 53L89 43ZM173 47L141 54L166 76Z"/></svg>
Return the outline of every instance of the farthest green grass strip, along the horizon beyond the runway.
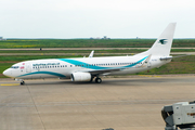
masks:
<svg viewBox="0 0 195 130"><path fill-rule="evenodd" d="M151 48L156 39L10 39L0 41L8 48ZM195 39L174 39L173 47L195 47Z"/></svg>

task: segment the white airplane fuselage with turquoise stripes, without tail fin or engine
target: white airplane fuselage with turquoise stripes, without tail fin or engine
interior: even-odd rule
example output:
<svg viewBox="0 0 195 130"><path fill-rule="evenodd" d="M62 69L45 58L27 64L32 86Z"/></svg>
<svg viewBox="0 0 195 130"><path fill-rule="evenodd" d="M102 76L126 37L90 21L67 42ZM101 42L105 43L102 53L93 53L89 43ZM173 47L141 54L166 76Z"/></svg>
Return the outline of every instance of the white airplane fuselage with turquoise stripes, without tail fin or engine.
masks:
<svg viewBox="0 0 195 130"><path fill-rule="evenodd" d="M51 58L32 60L14 64L4 74L17 79L35 78L67 78L73 73L117 69L101 75L134 74L161 66L170 61L160 61L152 56L150 62L143 66L147 56L107 56L107 57L81 57L81 58ZM94 75L96 75L94 73Z"/></svg>

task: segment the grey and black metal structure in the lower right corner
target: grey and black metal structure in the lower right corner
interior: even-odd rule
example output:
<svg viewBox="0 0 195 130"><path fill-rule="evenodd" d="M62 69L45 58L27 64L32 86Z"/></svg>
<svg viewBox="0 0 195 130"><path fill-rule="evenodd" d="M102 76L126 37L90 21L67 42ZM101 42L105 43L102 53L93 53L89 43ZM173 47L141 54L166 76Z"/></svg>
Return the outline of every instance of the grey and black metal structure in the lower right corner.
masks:
<svg viewBox="0 0 195 130"><path fill-rule="evenodd" d="M195 130L195 101L164 106L161 116L166 122L165 130Z"/></svg>

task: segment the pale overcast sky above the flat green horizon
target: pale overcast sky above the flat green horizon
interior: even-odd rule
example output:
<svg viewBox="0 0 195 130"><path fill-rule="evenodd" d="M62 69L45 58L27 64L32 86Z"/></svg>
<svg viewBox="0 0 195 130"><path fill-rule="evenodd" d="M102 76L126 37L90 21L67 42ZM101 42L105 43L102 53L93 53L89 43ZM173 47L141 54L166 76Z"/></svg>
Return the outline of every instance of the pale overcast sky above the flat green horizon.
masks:
<svg viewBox="0 0 195 130"><path fill-rule="evenodd" d="M4 38L195 38L195 0L0 0Z"/></svg>

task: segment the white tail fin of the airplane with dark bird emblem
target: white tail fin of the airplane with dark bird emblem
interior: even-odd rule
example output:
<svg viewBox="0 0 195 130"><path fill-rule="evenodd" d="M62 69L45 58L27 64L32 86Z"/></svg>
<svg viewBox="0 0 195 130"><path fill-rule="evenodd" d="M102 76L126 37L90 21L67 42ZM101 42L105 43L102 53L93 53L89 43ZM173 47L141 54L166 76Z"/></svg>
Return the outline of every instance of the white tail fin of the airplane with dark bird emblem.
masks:
<svg viewBox="0 0 195 130"><path fill-rule="evenodd" d="M174 35L176 23L170 23L164 32L158 37L155 41L153 47L138 55L159 55L159 56L169 56L171 46L172 46L172 38Z"/></svg>

